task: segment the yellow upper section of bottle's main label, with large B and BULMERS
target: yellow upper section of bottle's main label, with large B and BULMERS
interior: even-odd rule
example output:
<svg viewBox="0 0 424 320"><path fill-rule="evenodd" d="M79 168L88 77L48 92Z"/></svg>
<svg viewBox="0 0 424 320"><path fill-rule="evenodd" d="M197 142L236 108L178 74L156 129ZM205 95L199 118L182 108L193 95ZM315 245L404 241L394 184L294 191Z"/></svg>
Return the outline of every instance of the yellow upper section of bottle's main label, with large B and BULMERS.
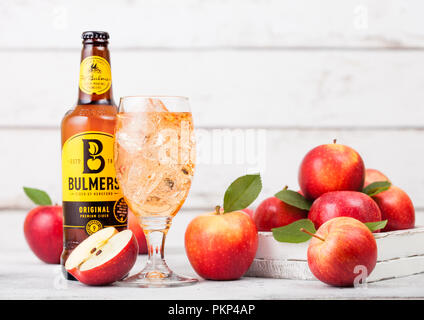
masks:
<svg viewBox="0 0 424 320"><path fill-rule="evenodd" d="M122 198L113 165L113 143L113 135L93 131L76 134L65 142L62 148L63 201Z"/></svg>

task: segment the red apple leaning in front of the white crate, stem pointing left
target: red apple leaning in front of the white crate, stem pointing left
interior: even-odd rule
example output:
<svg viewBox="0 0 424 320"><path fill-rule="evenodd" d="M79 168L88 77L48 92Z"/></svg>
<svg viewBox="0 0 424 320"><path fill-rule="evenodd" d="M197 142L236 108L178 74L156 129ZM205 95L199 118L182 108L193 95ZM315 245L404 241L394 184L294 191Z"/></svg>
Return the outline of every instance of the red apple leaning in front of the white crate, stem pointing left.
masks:
<svg viewBox="0 0 424 320"><path fill-rule="evenodd" d="M361 267L370 275L377 263L377 243L362 222L339 217L324 223L308 247L308 265L314 276L332 286L352 286ZM362 270L363 270L362 269Z"/></svg>

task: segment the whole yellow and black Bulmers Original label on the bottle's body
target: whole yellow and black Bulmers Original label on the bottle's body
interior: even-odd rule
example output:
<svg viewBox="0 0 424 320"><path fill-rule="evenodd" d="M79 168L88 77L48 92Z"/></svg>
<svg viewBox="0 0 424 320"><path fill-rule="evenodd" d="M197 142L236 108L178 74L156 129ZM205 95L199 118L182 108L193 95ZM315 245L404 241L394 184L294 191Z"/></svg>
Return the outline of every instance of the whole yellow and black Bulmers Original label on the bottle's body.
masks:
<svg viewBox="0 0 424 320"><path fill-rule="evenodd" d="M111 134L86 131L62 148L64 228L87 235L105 227L126 227L128 206L116 179Z"/></svg>

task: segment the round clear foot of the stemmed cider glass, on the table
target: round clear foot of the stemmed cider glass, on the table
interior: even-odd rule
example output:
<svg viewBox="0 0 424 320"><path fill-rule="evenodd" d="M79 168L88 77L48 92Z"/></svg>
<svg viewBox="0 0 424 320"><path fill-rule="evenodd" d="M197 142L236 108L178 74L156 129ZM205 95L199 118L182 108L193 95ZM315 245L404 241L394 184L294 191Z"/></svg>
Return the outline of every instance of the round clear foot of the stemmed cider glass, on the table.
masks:
<svg viewBox="0 0 424 320"><path fill-rule="evenodd" d="M173 272L163 274L160 272L139 272L135 275L117 281L114 285L119 287L134 288L166 288L189 286L198 282L195 278L177 275Z"/></svg>

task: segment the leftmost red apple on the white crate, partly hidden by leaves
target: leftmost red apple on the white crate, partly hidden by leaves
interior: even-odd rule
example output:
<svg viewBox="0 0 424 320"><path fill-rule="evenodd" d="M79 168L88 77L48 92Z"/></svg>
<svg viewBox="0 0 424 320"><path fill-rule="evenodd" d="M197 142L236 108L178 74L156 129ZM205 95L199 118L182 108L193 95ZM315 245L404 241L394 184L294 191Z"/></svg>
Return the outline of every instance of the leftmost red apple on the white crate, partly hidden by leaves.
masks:
<svg viewBox="0 0 424 320"><path fill-rule="evenodd" d="M271 231L272 228L286 226L307 217L308 211L286 204L277 197L270 197L256 208L253 221L258 231Z"/></svg>

